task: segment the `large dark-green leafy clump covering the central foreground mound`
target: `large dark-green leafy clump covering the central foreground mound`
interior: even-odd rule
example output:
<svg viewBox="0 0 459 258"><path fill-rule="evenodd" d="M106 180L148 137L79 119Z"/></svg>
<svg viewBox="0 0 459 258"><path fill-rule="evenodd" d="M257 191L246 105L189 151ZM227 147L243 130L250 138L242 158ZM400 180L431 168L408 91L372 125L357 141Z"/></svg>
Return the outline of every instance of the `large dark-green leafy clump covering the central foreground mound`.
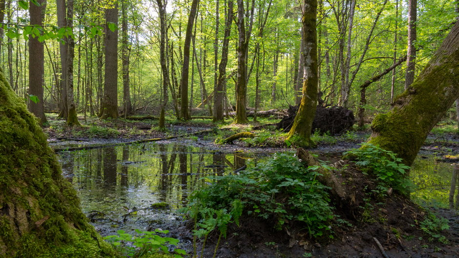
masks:
<svg viewBox="0 0 459 258"><path fill-rule="evenodd" d="M239 224L241 216L261 217L277 230L294 221L311 237L333 237L328 187L317 175L317 167L305 168L292 154L276 153L244 174L210 177L214 183L193 192L183 212L195 221L194 234L204 237L204 245L215 229L220 241L229 223Z"/></svg>

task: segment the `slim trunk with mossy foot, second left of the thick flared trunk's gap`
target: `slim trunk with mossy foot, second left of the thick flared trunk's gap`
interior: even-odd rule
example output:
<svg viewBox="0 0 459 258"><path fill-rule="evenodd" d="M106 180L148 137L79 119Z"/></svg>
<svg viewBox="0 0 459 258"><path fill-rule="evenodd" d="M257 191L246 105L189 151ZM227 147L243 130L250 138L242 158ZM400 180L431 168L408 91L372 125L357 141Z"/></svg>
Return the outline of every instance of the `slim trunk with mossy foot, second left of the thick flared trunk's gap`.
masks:
<svg viewBox="0 0 459 258"><path fill-rule="evenodd" d="M67 0L67 26L73 29L73 0ZM75 41L67 38L67 125L79 126L75 98L73 96L73 59L75 57Z"/></svg>

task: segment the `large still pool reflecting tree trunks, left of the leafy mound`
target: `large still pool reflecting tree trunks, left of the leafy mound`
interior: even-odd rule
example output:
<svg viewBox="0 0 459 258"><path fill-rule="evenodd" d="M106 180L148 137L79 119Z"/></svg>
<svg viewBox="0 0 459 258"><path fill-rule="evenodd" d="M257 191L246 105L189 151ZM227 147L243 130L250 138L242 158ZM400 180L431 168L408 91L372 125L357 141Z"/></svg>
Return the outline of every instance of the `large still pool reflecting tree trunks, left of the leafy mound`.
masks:
<svg viewBox="0 0 459 258"><path fill-rule="evenodd" d="M166 202L175 211L186 204L190 192L210 183L200 179L240 169L250 158L244 153L151 143L64 152L60 159L83 212L103 216L99 224L125 227L132 222L132 228L141 228L139 223L174 218L169 210L150 209L152 204ZM110 233L117 229L104 228Z"/></svg>

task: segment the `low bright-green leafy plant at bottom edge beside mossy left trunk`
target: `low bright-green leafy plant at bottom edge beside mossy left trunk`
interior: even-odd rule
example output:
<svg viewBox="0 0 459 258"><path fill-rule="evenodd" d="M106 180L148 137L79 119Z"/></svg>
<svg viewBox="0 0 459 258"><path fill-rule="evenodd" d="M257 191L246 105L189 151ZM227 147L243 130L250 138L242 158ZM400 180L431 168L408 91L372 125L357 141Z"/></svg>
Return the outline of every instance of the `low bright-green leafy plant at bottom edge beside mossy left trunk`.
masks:
<svg viewBox="0 0 459 258"><path fill-rule="evenodd" d="M161 237L157 233L167 234L167 230L156 229L152 231L135 230L137 235L130 235L125 233L124 230L118 230L118 235L104 237L111 243L116 250L126 257L141 257L146 254L164 253L169 254L167 245L176 246L179 242L178 239L172 237ZM182 249L175 249L173 256L175 258L182 258L182 255L187 253Z"/></svg>

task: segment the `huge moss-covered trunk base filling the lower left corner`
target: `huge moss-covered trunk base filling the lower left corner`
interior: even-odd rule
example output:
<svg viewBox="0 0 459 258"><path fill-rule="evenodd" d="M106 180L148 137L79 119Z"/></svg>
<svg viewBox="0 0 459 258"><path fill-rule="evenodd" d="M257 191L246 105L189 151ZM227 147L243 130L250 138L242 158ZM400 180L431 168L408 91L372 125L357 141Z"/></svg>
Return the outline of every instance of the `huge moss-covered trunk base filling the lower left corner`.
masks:
<svg viewBox="0 0 459 258"><path fill-rule="evenodd" d="M0 257L113 257L0 71Z"/></svg>

